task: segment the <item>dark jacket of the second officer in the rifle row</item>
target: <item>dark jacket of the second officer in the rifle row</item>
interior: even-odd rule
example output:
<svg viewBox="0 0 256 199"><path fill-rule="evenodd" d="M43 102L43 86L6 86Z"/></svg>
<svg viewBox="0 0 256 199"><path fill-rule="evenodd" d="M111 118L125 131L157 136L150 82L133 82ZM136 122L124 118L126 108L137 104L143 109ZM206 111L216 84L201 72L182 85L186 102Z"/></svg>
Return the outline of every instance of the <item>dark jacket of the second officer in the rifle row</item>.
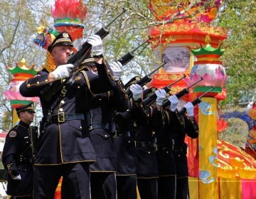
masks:
<svg viewBox="0 0 256 199"><path fill-rule="evenodd" d="M90 171L117 171L117 159L112 134L114 112L128 109L128 99L122 81L116 82L113 90L92 98L90 107L92 146L97 161L90 165Z"/></svg>

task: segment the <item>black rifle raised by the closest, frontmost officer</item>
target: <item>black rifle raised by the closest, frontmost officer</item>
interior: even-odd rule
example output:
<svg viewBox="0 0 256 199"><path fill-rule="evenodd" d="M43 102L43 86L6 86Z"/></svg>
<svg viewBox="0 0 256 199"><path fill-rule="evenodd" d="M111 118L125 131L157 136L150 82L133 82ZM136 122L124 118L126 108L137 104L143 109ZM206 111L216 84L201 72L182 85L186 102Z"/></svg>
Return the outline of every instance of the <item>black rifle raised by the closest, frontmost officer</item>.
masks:
<svg viewBox="0 0 256 199"><path fill-rule="evenodd" d="M119 18L119 16L124 14L125 11L126 10L123 8L123 11L120 14L118 14L112 21L110 21L110 23L108 23L107 26L100 28L100 30L97 31L95 35L100 36L100 38L102 39L105 38L105 36L107 36L108 33L110 33L110 31L107 31L107 28L117 18ZM53 84L51 87L46 87L46 89L41 90L41 95L44 97L44 99L46 99L46 101L49 101L51 97L55 94L55 92L60 90L60 88L63 87L63 85L68 84L68 82L74 79L75 75L77 75L80 64L90 55L91 49L92 49L92 45L90 45L90 43L87 43L87 41L85 41L85 43L82 44L80 50L78 50L76 53L73 53L73 55L71 55L70 58L68 58L67 63L71 63L74 65L74 68L70 72L70 76L61 83L57 83L57 81L55 81L56 83Z"/></svg>

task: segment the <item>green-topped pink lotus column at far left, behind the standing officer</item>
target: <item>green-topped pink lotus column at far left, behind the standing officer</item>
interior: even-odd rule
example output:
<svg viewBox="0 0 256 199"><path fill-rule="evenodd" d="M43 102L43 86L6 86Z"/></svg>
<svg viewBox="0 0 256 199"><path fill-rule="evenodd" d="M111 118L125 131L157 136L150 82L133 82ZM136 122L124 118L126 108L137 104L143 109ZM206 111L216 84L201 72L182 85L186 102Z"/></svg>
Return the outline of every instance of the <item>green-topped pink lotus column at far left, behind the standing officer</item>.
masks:
<svg viewBox="0 0 256 199"><path fill-rule="evenodd" d="M23 58L21 63L16 63L15 67L11 65L6 65L6 68L14 75L14 78L11 80L9 85L9 90L4 91L3 94L6 99L10 100L12 115L13 115L13 126L18 122L18 116L16 114L16 107L20 107L31 102L38 102L38 97L23 97L19 92L20 85L27 80L36 75L36 70L34 65L30 67L26 65L26 60Z"/></svg>

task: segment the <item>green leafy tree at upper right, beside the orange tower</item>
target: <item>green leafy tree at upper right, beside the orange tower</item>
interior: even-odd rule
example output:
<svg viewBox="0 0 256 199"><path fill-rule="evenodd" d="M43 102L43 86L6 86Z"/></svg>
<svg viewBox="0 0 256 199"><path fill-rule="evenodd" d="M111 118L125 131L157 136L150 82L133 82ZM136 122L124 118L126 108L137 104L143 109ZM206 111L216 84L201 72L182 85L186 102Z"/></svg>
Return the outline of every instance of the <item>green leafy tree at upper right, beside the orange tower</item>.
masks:
<svg viewBox="0 0 256 199"><path fill-rule="evenodd" d="M222 57L228 97L222 104L238 105L241 99L248 102L256 94L256 1L224 1L216 25L229 31Z"/></svg>

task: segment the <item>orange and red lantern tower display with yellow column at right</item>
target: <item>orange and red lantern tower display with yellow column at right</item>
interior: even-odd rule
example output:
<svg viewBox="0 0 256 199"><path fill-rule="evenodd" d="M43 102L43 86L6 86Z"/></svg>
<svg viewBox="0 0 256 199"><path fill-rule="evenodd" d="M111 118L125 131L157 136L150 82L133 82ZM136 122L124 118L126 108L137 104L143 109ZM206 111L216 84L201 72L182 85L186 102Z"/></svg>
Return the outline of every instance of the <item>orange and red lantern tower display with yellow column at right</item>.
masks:
<svg viewBox="0 0 256 199"><path fill-rule="evenodd" d="M159 63L167 62L154 74L149 86L164 87L185 74L188 78L171 88L170 93L175 94L203 77L181 99L184 102L214 87L196 106L198 139L187 139L190 197L255 198L255 159L239 147L218 140L218 131L225 124L218 118L218 103L227 95L224 88L227 75L220 61L225 49L221 44L228 35L224 28L210 26L221 0L214 1L207 9L204 3L202 0L191 6L183 1L179 6L171 6L170 1L149 1L156 21L166 21L149 29L151 47ZM190 10L183 9L188 6ZM173 21L174 18L178 19Z"/></svg>

